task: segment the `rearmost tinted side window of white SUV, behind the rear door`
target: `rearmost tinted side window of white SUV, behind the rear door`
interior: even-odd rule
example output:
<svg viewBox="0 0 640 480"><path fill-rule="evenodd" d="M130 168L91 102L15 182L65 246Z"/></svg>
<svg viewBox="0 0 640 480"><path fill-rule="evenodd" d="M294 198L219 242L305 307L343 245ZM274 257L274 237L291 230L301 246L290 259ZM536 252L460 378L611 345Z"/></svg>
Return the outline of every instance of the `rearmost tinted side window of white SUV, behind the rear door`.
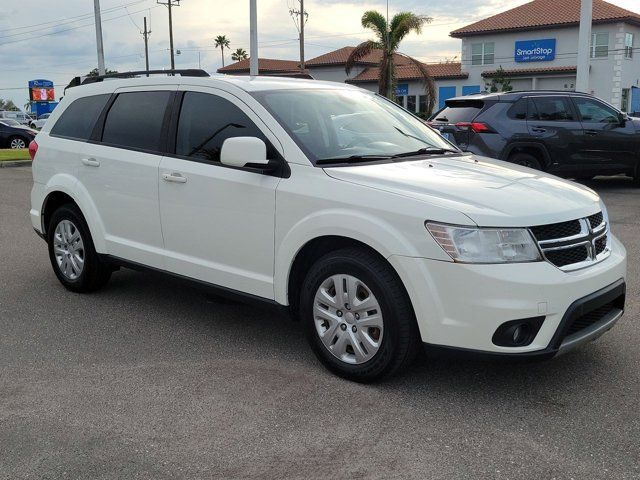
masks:
<svg viewBox="0 0 640 480"><path fill-rule="evenodd" d="M111 95L93 95L75 100L62 112L51 135L88 140L98 116Z"/></svg>

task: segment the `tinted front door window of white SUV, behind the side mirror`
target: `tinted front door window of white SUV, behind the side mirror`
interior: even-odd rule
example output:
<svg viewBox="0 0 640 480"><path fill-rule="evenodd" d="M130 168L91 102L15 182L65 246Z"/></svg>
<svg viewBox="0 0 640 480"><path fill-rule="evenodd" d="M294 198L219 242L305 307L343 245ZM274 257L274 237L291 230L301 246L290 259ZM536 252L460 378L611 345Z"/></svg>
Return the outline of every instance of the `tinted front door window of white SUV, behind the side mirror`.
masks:
<svg viewBox="0 0 640 480"><path fill-rule="evenodd" d="M185 94L178 121L177 155L219 162L222 143L233 137L258 137L269 145L258 127L233 103L208 93ZM273 158L270 150L267 154Z"/></svg>

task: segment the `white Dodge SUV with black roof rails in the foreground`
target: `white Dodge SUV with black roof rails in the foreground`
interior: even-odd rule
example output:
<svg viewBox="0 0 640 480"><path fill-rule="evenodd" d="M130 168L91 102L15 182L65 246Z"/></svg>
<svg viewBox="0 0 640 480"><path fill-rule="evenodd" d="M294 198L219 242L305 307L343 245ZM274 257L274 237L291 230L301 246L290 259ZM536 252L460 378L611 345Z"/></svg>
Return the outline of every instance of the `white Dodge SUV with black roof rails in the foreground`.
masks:
<svg viewBox="0 0 640 480"><path fill-rule="evenodd" d="M595 192L462 153L348 85L97 82L31 147L31 220L67 289L143 266L284 307L353 380L423 345L550 357L624 309L626 253Z"/></svg>

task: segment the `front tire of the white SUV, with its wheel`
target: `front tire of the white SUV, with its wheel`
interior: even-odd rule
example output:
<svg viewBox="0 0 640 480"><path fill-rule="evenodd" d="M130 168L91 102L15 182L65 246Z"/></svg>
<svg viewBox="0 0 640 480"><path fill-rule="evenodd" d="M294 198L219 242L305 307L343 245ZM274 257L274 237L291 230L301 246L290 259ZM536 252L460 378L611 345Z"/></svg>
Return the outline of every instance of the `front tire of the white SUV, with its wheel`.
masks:
<svg viewBox="0 0 640 480"><path fill-rule="evenodd" d="M336 279L347 282L343 298L353 305L338 308ZM391 375L420 351L418 325L400 278L384 260L361 249L338 250L316 261L302 284L300 318L322 364L356 382Z"/></svg>

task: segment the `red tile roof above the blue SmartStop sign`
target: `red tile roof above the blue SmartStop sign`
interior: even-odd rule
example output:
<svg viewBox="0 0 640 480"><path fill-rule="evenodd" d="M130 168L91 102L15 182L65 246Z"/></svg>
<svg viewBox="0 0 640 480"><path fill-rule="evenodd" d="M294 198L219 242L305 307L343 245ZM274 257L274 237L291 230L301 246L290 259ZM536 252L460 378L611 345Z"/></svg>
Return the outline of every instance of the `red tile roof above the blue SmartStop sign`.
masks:
<svg viewBox="0 0 640 480"><path fill-rule="evenodd" d="M640 14L612 5L604 0L593 0L593 23L625 21L640 25ZM512 30L537 30L551 26L573 26L580 23L580 0L534 0L499 13L449 35L469 37Z"/></svg>

